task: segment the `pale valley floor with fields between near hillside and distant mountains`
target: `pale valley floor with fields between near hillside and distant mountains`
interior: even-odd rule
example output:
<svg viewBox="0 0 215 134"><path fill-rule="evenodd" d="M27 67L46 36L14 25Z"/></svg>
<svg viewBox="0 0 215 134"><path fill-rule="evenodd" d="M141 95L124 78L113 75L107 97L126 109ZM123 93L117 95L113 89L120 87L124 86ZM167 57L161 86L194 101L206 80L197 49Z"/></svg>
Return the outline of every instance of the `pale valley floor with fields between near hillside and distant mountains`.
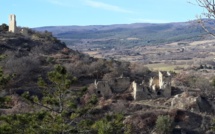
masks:
<svg viewBox="0 0 215 134"><path fill-rule="evenodd" d="M70 48L77 48L70 46ZM215 40L194 42L174 42L164 45L133 46L132 48L90 49L78 47L78 50L95 58L116 59L119 61L141 62L152 70L175 71L213 66L215 58Z"/></svg>

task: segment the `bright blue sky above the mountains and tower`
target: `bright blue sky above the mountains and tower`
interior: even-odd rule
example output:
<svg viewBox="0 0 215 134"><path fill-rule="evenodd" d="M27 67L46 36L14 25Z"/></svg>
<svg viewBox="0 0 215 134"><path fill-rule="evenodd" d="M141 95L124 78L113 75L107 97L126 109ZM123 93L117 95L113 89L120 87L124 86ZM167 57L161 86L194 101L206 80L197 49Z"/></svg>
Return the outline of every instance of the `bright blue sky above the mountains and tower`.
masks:
<svg viewBox="0 0 215 134"><path fill-rule="evenodd" d="M15 14L30 28L184 22L203 12L195 0L0 0L0 24Z"/></svg>

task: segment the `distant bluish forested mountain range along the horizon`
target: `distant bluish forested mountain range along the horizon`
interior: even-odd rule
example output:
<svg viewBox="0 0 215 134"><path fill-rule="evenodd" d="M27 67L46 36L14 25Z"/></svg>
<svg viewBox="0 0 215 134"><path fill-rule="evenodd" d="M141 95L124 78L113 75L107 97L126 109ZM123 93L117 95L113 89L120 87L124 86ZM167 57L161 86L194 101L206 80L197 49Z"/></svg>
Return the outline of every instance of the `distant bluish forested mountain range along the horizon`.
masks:
<svg viewBox="0 0 215 134"><path fill-rule="evenodd" d="M204 19L211 29L215 21ZM151 45L176 41L202 40L209 36L197 20L165 24L135 23L91 26L47 26L35 28L37 31L49 31L54 36L66 41L68 45L77 45L88 40L89 44L98 45ZM82 40L82 42L81 42Z"/></svg>

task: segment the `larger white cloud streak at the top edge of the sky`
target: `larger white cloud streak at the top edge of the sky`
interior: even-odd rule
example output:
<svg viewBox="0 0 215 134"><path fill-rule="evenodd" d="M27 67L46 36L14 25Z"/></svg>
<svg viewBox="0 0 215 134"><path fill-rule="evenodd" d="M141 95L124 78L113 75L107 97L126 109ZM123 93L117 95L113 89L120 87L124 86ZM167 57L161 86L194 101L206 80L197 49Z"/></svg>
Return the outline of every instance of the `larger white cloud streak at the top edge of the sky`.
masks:
<svg viewBox="0 0 215 134"><path fill-rule="evenodd" d="M84 0L84 2L88 6L94 7L94 8L100 8L100 9L104 9L104 10L109 10L109 11L114 11L114 12L121 12L121 13L134 13L133 11L121 8L119 6L110 5L110 4L103 3L103 2L98 2L98 1L93 1L93 0Z"/></svg>

